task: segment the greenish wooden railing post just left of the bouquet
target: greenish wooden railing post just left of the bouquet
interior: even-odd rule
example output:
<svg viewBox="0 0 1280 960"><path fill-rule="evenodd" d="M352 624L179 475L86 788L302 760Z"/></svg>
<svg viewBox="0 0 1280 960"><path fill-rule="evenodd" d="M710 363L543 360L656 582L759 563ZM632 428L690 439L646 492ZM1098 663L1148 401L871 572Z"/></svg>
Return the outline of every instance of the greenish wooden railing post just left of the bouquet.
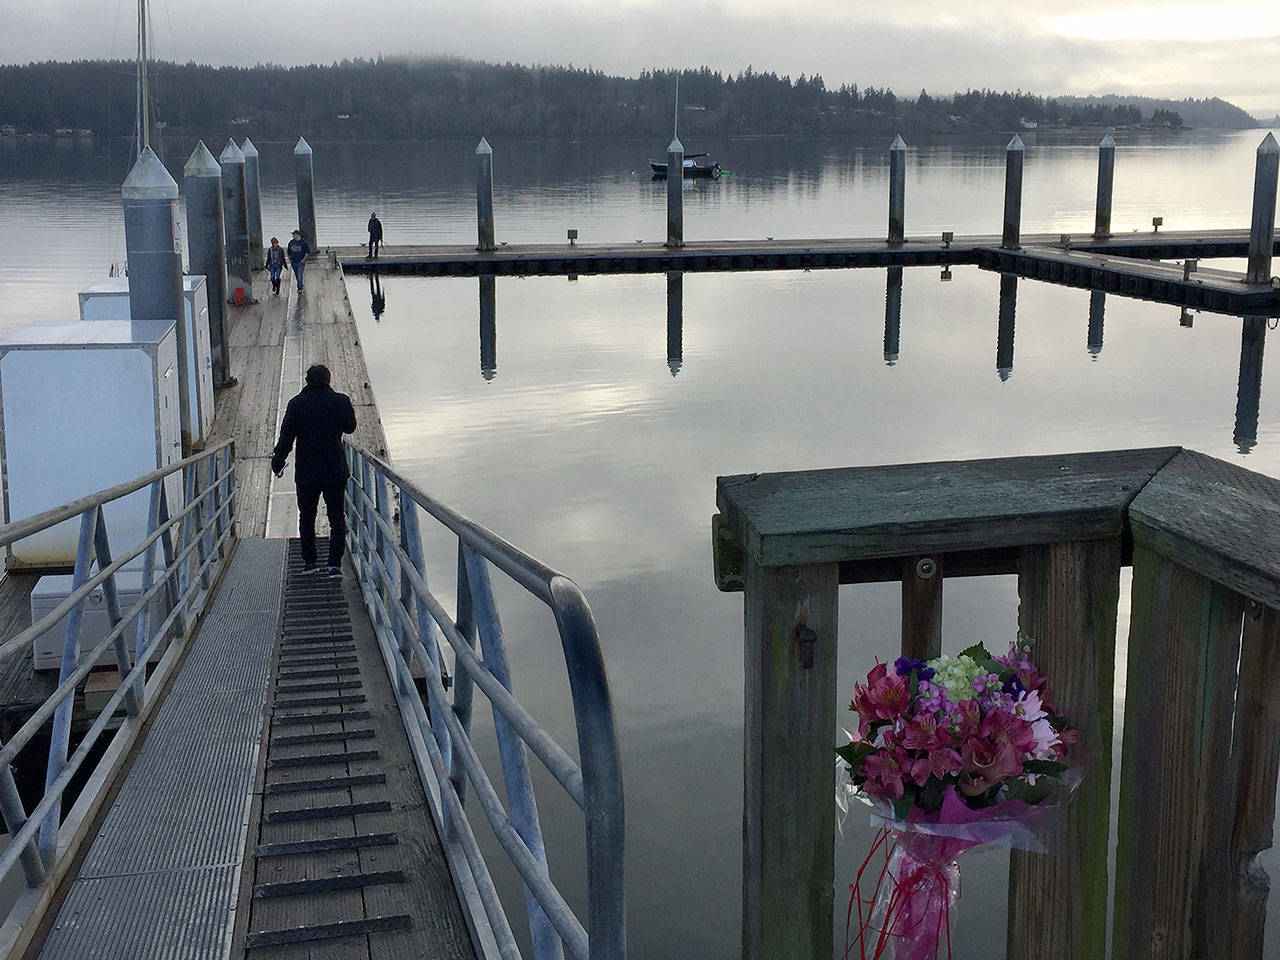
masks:
<svg viewBox="0 0 1280 960"><path fill-rule="evenodd" d="M742 956L832 955L838 563L748 556Z"/></svg>

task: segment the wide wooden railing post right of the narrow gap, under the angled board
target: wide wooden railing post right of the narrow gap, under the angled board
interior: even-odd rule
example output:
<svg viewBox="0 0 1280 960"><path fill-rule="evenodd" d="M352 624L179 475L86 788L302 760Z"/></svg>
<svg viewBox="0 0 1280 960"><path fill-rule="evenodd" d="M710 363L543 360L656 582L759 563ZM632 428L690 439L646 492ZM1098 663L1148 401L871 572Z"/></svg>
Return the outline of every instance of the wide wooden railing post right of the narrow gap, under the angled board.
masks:
<svg viewBox="0 0 1280 960"><path fill-rule="evenodd" d="M1112 956L1217 956L1244 600L1140 544L1132 595Z"/></svg>

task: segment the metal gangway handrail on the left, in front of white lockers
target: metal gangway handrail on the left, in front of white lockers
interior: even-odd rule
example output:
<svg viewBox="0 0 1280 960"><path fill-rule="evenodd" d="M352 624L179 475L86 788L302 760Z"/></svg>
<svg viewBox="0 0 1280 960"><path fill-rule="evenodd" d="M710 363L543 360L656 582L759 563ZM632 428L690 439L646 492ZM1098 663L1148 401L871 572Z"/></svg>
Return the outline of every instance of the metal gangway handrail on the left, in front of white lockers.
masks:
<svg viewBox="0 0 1280 960"><path fill-rule="evenodd" d="M170 513L165 480L175 475L183 481L184 503L180 511ZM150 503L146 532L137 544L113 558L104 507L147 488ZM10 836L8 849L0 854L0 876L6 874L20 860L29 887L56 883L64 867L74 859L76 844L68 842L69 837L63 836L67 824L63 823L61 812L68 786L86 764L122 704L125 717L118 737L131 736L141 728L169 676L165 671L148 682L147 664L168 643L189 636L195 621L209 603L214 584L230 559L236 536L234 443L225 440L134 480L5 524L0 526L0 547L8 547L74 517L79 517L81 525L70 594L37 623L0 644L3 657L32 643L56 623L67 623L58 686L9 742L0 746L0 815ZM159 571L157 545L163 552ZM116 573L140 556L143 557L140 595L128 609L122 611ZM99 571L91 573L95 562ZM111 628L92 649L81 650L83 605L99 588L106 600ZM151 605L161 595L166 614L152 626ZM132 650L124 639L131 627L134 630ZM109 648L115 650L119 682L76 751L68 756L74 692ZM50 719L52 733L45 794L27 812L18 795L13 762ZM114 756L111 751L108 753L110 759L100 759L95 769L102 771L102 765L109 762L113 767L106 771L108 776L91 778L96 783L88 788L96 791L91 803L97 803L105 795L110 786L110 773L125 756L123 750ZM19 899L10 916L24 909L29 910L29 904L24 906Z"/></svg>

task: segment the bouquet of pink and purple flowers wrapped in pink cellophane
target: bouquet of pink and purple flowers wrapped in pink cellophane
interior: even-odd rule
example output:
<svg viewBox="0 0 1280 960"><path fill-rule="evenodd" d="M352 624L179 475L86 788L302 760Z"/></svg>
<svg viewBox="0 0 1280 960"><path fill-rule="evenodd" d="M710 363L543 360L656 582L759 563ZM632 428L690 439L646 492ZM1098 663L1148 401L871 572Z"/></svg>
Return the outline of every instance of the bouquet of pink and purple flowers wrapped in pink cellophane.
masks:
<svg viewBox="0 0 1280 960"><path fill-rule="evenodd" d="M837 804L868 803L881 829L851 884L846 929L856 908L858 933L846 956L892 946L899 960L932 960L943 934L950 956L956 856L980 844L1043 850L1037 826L1062 790L1075 731L1053 712L1030 643L1019 635L1000 657L982 644L927 663L902 657L854 686L858 728L836 749L847 771Z"/></svg>

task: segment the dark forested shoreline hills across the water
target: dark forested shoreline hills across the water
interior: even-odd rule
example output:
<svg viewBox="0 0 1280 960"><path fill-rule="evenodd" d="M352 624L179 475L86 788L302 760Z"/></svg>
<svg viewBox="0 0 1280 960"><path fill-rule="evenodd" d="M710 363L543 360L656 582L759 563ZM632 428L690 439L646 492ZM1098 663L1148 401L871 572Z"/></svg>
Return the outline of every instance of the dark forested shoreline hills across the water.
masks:
<svg viewBox="0 0 1280 960"><path fill-rule="evenodd" d="M192 136L251 133L330 140L666 136L676 73L614 77L573 67L379 58L307 67L151 65L152 115ZM1030 127L1217 127L1256 123L1219 100L1044 97L1023 91L827 87L753 69L680 74L689 136L947 134ZM91 131L125 136L136 114L134 67L78 60L0 67L0 127L14 136Z"/></svg>

